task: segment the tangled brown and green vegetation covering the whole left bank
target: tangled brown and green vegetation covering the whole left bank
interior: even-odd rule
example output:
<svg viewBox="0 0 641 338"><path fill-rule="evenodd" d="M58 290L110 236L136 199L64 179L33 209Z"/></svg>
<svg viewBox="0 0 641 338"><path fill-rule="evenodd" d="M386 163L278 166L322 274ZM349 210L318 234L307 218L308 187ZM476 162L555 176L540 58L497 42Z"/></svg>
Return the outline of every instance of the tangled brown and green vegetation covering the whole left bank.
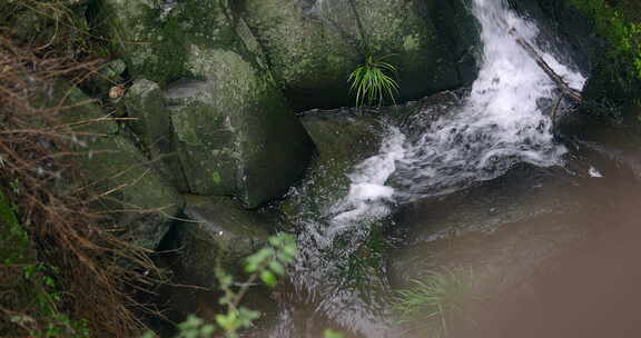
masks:
<svg viewBox="0 0 641 338"><path fill-rule="evenodd" d="M2 337L135 337L145 307L134 295L158 276L146 250L103 227L100 196L78 185L88 135L51 95L55 80L83 83L100 67L82 6L0 1L0 236L32 251L0 259Z"/></svg>

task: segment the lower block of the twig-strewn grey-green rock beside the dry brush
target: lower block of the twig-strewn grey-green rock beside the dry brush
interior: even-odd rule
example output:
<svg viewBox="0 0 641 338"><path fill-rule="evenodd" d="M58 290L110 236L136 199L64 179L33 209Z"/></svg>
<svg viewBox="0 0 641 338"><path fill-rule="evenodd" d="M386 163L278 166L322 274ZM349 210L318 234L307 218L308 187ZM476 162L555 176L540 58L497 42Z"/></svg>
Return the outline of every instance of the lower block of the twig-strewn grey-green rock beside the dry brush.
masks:
<svg viewBox="0 0 641 338"><path fill-rule="evenodd" d="M87 181L97 193L109 191L97 208L114 212L112 222L125 229L121 238L155 249L183 206L176 189L122 136L93 139L87 151L80 159Z"/></svg>

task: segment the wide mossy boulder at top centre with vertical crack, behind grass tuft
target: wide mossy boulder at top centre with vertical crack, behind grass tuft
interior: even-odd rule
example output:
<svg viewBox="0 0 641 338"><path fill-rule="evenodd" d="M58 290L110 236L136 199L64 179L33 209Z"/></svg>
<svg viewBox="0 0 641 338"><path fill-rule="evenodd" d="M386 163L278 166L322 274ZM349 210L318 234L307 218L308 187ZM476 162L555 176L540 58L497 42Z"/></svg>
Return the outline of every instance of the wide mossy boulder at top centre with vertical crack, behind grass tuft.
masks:
<svg viewBox="0 0 641 338"><path fill-rule="evenodd" d="M461 84L424 1L244 0L239 8L296 108L348 105L347 77L366 54L394 54L403 99Z"/></svg>

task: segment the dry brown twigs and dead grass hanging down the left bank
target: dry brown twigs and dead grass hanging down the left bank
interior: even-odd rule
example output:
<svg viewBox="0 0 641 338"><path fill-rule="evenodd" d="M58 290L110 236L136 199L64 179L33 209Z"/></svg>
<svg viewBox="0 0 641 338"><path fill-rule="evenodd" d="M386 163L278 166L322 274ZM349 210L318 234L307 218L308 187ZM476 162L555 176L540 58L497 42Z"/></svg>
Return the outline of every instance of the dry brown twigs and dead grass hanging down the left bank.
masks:
<svg viewBox="0 0 641 338"><path fill-rule="evenodd" d="M39 1L24 1L32 2ZM82 179L73 147L79 137L60 120L68 107L34 103L52 79L82 82L100 62L79 60L68 47L60 48L62 34L39 42L13 33L0 23L0 189L18 207L38 261L59 268L62 297L56 309L89 320L91 337L136 337L145 327L137 311L145 306L134 295L150 288L148 277L157 276L157 269L145 249L103 227L89 206L91 191L62 183ZM0 266L0 277L11 268ZM19 335L47 325L38 308L6 306L0 304L0 332L9 315L30 319L13 328Z"/></svg>

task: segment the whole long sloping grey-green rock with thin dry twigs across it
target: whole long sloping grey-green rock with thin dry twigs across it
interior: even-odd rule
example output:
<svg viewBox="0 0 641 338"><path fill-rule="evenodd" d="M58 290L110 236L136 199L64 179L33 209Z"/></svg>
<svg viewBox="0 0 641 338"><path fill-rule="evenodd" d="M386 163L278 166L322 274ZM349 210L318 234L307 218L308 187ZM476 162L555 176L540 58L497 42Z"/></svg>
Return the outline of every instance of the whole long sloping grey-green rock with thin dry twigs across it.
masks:
<svg viewBox="0 0 641 338"><path fill-rule="evenodd" d="M176 189L80 89L57 82L47 101L71 107L62 111L62 119L76 125L75 147L83 175L82 182L61 182L60 188L90 187L100 196L97 210L108 211L110 226L124 229L122 239L155 249L183 206Z"/></svg>

